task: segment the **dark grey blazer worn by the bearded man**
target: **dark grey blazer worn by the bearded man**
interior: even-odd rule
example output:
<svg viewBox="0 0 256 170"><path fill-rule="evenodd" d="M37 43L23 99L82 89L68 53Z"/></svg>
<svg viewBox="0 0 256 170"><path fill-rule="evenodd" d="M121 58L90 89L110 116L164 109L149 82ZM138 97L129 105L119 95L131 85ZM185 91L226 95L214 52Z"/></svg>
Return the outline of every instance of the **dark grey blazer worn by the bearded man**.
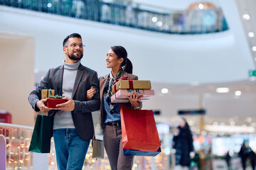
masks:
<svg viewBox="0 0 256 170"><path fill-rule="evenodd" d="M36 89L29 94L28 102L31 104L33 110L40 111L36 106L36 102L41 100L41 90L45 87L54 89L55 95L62 96L63 71L63 65L49 69L43 80L36 86ZM87 90L91 86L97 92L90 101L87 101ZM71 98L75 101L75 109L71 112L75 129L78 131L82 140L90 140L94 135L92 111L98 111L100 108L100 89L97 72L80 64ZM56 111L49 111L48 114L54 116L55 113Z"/></svg>

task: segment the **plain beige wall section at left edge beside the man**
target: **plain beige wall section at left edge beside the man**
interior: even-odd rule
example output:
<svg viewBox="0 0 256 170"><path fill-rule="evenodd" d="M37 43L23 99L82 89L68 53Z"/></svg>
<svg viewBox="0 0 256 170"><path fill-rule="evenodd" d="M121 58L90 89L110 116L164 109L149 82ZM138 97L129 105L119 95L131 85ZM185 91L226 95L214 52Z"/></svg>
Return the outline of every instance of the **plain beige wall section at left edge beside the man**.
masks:
<svg viewBox="0 0 256 170"><path fill-rule="evenodd" d="M12 123L33 125L28 94L33 89L34 40L0 33L0 110L12 115Z"/></svg>

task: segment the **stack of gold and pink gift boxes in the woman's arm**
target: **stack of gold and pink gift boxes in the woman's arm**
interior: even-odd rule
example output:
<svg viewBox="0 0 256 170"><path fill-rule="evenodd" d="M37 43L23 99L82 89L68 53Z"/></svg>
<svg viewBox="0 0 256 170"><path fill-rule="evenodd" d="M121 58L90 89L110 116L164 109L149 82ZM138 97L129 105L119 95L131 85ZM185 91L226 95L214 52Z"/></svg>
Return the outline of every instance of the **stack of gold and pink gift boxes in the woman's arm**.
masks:
<svg viewBox="0 0 256 170"><path fill-rule="evenodd" d="M112 103L127 103L132 92L135 91L142 96L140 101L146 101L154 96L154 90L151 90L151 81L147 80L119 80L112 86Z"/></svg>

